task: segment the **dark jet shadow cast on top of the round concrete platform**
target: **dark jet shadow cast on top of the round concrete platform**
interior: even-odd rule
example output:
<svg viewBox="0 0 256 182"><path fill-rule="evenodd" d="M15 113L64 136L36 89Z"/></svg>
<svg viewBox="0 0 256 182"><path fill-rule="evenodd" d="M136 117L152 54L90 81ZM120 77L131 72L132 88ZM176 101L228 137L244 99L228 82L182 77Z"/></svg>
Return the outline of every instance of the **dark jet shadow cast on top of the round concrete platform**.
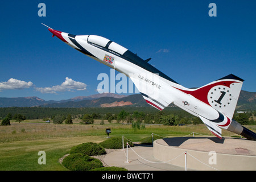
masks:
<svg viewBox="0 0 256 182"><path fill-rule="evenodd" d="M163 138L164 142L166 142L169 146L175 146L175 147L179 147L181 144L183 144L185 141L187 141L188 139L209 139L212 140L212 142L214 143L224 143L224 138L220 139L217 137L175 137L175 138ZM198 141L198 140L197 140Z"/></svg>

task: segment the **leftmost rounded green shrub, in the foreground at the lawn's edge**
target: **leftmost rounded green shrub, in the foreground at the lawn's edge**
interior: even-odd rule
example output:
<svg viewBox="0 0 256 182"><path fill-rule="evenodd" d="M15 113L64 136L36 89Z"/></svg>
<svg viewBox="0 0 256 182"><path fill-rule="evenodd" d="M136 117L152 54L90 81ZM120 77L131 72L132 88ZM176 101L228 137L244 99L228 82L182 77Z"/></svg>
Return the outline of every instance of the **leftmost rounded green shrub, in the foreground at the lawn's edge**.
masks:
<svg viewBox="0 0 256 182"><path fill-rule="evenodd" d="M68 155L63 159L62 164L72 171L89 171L94 168L103 167L100 160L80 153Z"/></svg>

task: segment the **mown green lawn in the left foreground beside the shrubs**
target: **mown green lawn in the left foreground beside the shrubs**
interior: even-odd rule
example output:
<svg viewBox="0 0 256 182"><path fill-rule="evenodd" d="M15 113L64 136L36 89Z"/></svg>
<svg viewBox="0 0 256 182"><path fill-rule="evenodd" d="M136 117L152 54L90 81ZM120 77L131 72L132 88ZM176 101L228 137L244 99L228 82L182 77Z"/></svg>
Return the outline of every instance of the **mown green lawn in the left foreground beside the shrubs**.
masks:
<svg viewBox="0 0 256 182"><path fill-rule="evenodd" d="M103 136L88 136L0 143L0 170L65 170L59 159L68 154L71 147L84 142L99 142L102 138ZM39 151L46 152L46 165L38 164Z"/></svg>

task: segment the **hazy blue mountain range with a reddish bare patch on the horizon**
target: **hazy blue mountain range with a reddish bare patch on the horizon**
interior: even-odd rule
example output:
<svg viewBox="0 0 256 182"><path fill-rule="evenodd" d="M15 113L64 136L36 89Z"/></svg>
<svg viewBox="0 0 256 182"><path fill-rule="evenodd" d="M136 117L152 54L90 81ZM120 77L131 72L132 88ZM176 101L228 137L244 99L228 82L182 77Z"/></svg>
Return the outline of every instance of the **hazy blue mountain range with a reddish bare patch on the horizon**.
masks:
<svg viewBox="0 0 256 182"><path fill-rule="evenodd" d="M92 96L74 97L61 101L45 101L38 97L0 97L0 107L116 107L116 106L150 106L141 94L129 96L103 93ZM256 110L256 92L241 90L237 109Z"/></svg>

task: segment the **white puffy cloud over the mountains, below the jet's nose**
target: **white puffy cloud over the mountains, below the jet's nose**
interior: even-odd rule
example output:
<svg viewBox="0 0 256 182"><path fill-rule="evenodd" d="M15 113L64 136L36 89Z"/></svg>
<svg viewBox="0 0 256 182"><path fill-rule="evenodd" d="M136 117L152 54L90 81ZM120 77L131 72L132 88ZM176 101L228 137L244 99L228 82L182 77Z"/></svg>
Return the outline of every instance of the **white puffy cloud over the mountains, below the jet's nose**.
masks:
<svg viewBox="0 0 256 182"><path fill-rule="evenodd" d="M74 81L71 78L66 78L66 80L61 85L56 85L52 87L45 87L45 88L35 88L36 91L41 93L56 93L56 92L65 92L69 91L72 92L73 90L86 90L86 84Z"/></svg>

